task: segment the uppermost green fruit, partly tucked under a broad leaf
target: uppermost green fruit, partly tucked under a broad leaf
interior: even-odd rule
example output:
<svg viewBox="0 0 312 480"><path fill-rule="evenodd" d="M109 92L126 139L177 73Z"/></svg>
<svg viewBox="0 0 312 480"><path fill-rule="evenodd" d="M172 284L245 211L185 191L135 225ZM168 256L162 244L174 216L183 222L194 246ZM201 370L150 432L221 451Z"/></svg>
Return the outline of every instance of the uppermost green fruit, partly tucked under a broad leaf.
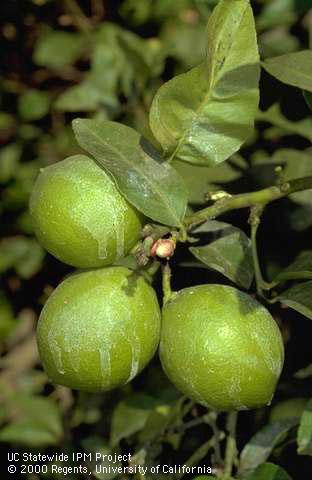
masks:
<svg viewBox="0 0 312 480"><path fill-rule="evenodd" d="M74 267L112 264L140 238L142 216L92 159L75 155L41 171L30 198L39 242Z"/></svg>

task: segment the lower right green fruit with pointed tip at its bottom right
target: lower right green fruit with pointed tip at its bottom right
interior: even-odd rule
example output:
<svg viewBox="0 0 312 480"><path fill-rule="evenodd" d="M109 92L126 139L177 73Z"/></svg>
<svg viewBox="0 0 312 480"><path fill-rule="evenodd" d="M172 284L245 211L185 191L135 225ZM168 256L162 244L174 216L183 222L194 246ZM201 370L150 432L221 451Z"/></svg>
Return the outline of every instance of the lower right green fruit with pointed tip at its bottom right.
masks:
<svg viewBox="0 0 312 480"><path fill-rule="evenodd" d="M271 402L284 346L256 300L229 286L200 285L165 305L160 358L188 397L216 410L245 410Z"/></svg>

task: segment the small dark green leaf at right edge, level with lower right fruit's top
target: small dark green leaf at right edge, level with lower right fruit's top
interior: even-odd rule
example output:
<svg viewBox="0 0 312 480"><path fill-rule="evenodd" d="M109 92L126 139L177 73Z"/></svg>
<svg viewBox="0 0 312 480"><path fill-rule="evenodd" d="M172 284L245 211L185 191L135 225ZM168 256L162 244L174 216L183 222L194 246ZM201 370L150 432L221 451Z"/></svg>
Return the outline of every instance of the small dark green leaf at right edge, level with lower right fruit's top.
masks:
<svg viewBox="0 0 312 480"><path fill-rule="evenodd" d="M275 301L280 301L283 305L287 305L312 320L312 280L290 287Z"/></svg>

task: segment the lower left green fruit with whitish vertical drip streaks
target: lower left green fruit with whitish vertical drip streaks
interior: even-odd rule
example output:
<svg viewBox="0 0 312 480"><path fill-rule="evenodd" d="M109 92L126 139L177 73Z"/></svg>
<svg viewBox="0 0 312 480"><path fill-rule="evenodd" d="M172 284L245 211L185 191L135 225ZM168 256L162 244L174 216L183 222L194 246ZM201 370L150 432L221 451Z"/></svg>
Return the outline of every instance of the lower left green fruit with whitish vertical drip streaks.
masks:
<svg viewBox="0 0 312 480"><path fill-rule="evenodd" d="M124 267L76 273L44 306L37 343L53 383L89 392L130 382L159 343L154 289Z"/></svg>

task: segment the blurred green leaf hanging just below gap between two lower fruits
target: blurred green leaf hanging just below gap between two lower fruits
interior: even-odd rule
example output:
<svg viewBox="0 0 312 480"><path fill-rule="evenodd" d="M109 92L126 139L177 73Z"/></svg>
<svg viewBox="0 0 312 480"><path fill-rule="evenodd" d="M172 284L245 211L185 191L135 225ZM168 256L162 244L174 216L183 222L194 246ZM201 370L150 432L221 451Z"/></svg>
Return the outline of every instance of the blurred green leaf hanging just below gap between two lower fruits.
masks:
<svg viewBox="0 0 312 480"><path fill-rule="evenodd" d="M119 402L112 416L110 444L116 446L122 438L142 430L155 405L157 401L144 394L132 395Z"/></svg>

